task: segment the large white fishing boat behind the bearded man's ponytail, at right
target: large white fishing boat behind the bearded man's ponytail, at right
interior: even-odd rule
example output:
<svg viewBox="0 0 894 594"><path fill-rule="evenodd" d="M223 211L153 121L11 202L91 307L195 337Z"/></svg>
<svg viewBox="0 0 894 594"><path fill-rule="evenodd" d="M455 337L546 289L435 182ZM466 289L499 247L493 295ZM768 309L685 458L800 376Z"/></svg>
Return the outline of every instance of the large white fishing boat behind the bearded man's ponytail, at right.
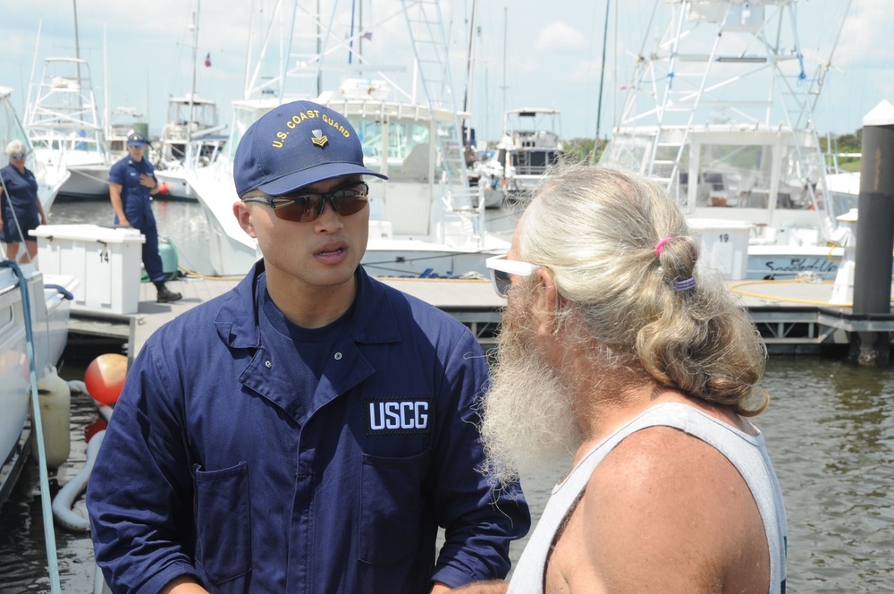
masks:
<svg viewBox="0 0 894 594"><path fill-rule="evenodd" d="M833 279L843 256L837 216L856 207L831 193L814 129L838 39L828 55L806 55L798 4L656 1L656 43L637 53L600 160L665 182L719 252L738 252L721 243L745 229L747 278Z"/></svg>

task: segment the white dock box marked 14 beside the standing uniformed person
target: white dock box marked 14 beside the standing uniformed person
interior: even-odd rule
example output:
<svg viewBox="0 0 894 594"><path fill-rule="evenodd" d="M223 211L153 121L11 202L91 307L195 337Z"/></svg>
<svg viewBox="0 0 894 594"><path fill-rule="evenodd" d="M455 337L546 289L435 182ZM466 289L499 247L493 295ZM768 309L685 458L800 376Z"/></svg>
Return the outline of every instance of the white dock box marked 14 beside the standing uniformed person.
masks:
<svg viewBox="0 0 894 594"><path fill-rule="evenodd" d="M137 313L146 237L137 229L99 225L40 225L38 268L45 275L74 276L72 311Z"/></svg>

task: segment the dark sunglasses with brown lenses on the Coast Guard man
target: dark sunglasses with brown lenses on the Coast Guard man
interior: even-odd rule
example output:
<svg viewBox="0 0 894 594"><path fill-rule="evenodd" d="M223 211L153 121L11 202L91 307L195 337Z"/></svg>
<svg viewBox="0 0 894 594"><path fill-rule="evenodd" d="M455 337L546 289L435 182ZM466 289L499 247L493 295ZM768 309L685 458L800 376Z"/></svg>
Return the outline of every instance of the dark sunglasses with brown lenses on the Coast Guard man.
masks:
<svg viewBox="0 0 894 594"><path fill-rule="evenodd" d="M351 182L333 191L296 191L282 196L249 196L243 202L260 202L274 209L274 215L283 221L309 223L323 214L326 200L333 210L342 216L353 215L367 206L369 186L364 182Z"/></svg>

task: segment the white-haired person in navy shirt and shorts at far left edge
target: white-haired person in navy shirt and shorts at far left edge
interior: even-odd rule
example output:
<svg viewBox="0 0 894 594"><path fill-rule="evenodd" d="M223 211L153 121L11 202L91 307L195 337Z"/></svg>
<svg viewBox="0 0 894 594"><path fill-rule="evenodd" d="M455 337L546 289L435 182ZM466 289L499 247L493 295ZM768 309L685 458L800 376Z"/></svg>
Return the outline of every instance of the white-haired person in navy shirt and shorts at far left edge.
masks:
<svg viewBox="0 0 894 594"><path fill-rule="evenodd" d="M44 207L38 196L38 181L25 166L28 150L21 140L6 145L9 165L0 169L0 238L6 244L6 258L16 260L19 244L25 242L23 262L30 262L38 255L38 240L28 232L46 225Z"/></svg>

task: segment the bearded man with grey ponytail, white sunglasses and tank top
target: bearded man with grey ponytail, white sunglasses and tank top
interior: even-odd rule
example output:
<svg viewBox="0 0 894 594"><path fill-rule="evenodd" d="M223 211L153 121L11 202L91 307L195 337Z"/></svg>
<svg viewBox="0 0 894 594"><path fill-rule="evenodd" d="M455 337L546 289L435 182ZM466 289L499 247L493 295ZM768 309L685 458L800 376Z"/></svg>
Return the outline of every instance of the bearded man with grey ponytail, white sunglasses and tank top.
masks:
<svg viewBox="0 0 894 594"><path fill-rule="evenodd" d="M511 593L784 592L785 508L748 420L766 350L697 246L658 184L580 166L488 260L509 301L485 470L510 484L574 457Z"/></svg>

